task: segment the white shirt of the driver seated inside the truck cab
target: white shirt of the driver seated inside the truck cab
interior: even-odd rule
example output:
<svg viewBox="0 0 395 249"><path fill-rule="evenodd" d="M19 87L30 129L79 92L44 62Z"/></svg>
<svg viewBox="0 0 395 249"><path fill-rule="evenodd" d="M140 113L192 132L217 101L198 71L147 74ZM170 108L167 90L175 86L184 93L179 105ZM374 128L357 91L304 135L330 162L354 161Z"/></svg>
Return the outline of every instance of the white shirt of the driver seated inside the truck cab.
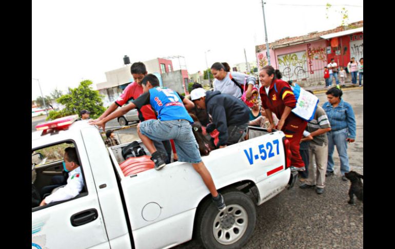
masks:
<svg viewBox="0 0 395 249"><path fill-rule="evenodd" d="M81 167L69 172L69 178L67 178L67 185L59 188L55 193L45 198L45 203L49 204L55 201L64 201L76 197L80 194L84 187L84 179L81 174Z"/></svg>

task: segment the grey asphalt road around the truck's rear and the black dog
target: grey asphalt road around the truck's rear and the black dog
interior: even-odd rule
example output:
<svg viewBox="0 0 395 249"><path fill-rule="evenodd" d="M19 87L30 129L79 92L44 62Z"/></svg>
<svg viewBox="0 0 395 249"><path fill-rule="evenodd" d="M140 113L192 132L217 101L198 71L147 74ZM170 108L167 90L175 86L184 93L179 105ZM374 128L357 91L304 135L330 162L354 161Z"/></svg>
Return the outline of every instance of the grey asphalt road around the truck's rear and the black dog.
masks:
<svg viewBox="0 0 395 249"><path fill-rule="evenodd" d="M322 105L326 95L317 96ZM348 149L350 166L363 174L363 89L345 90L343 99L357 119L357 140ZM340 178L337 152L334 161L335 176L327 179L324 194L295 186L256 207L255 231L243 248L363 248L363 204L347 203L350 183ZM192 240L175 248L203 247Z"/></svg>

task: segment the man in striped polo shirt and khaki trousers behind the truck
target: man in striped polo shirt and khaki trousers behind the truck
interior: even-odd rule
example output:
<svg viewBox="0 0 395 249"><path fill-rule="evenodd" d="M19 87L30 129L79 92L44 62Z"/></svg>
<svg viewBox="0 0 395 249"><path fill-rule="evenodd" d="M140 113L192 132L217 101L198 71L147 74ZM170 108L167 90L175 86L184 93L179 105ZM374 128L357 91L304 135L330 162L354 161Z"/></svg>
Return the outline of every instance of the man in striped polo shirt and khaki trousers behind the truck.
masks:
<svg viewBox="0 0 395 249"><path fill-rule="evenodd" d="M325 173L328 162L328 137L325 133L330 131L330 129L325 110L321 106L317 106L314 119L307 123L307 130L313 137L309 145L309 174L305 183L300 185L301 188L311 188L315 185L317 194L324 193ZM314 169L314 158L317 169Z"/></svg>

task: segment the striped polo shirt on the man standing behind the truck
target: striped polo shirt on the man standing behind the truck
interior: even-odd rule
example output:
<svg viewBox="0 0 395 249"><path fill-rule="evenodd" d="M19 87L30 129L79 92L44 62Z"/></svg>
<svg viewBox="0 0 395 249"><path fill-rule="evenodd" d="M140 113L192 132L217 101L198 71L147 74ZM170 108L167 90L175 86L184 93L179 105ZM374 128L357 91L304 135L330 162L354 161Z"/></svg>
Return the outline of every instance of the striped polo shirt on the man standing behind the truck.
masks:
<svg viewBox="0 0 395 249"><path fill-rule="evenodd" d="M328 117L326 116L325 110L321 106L317 106L317 110L315 110L314 119L310 120L307 123L308 132L313 132L318 129L326 129L330 128ZM314 136L313 140L310 141L313 144L322 146L324 143L328 144L328 137L326 133L323 133L318 136Z"/></svg>

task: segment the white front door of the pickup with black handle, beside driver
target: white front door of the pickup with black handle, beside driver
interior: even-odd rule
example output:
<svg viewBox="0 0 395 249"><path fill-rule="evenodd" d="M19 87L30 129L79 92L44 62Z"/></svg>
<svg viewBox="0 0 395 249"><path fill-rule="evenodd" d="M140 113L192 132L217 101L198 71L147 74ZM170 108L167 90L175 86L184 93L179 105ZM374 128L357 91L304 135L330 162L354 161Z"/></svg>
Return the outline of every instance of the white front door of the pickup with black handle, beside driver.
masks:
<svg viewBox="0 0 395 249"><path fill-rule="evenodd" d="M85 149L76 146L83 144L82 141L78 143L76 140L78 139L39 148L42 154L50 154L51 151L63 150L67 146L75 147L81 164L84 188L79 195L69 200L44 206L32 205L32 248L110 248L89 160ZM57 155L59 154L61 153L58 152ZM63 153L61 155L61 159L45 155L52 160L36 166L39 169L36 170L36 181L40 179L39 172L44 172L46 167L48 170L57 164L63 167ZM72 176L68 176L70 177Z"/></svg>

